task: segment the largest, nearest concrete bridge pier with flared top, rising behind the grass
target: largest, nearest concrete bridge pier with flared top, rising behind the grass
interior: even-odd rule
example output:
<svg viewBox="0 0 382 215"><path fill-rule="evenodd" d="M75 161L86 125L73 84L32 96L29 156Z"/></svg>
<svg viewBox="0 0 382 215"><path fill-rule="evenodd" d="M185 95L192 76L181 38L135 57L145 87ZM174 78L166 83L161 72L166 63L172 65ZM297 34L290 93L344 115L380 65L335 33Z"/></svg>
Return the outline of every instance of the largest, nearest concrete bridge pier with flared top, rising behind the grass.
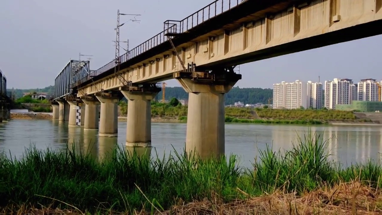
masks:
<svg viewBox="0 0 382 215"><path fill-rule="evenodd" d="M213 71L214 72L214 71ZM174 77L188 94L186 151L201 158L220 156L225 152L224 94L241 79L234 72L178 72Z"/></svg>

